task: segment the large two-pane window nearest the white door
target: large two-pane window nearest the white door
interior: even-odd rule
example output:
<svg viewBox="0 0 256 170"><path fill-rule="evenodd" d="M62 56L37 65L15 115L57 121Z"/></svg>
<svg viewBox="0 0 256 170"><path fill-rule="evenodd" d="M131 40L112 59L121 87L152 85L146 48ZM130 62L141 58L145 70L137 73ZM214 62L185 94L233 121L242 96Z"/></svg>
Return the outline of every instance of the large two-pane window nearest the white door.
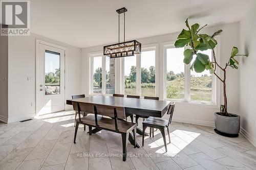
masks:
<svg viewBox="0 0 256 170"><path fill-rule="evenodd" d="M105 56L91 57L93 94L115 93L115 60Z"/></svg>

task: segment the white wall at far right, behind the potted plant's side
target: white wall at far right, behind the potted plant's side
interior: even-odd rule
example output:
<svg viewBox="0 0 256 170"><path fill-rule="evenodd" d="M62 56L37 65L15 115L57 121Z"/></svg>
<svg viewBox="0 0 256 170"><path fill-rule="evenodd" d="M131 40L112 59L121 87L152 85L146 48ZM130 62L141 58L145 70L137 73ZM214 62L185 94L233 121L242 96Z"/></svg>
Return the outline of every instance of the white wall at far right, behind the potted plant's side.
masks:
<svg viewBox="0 0 256 170"><path fill-rule="evenodd" d="M256 147L256 4L240 22L240 113L241 130Z"/></svg>

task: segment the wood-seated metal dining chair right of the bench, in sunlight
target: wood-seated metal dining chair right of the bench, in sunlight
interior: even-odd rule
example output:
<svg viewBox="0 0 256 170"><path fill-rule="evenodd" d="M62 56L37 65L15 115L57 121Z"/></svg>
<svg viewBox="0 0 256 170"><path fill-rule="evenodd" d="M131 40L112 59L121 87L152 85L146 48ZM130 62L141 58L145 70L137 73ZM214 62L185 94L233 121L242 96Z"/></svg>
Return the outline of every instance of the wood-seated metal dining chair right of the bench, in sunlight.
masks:
<svg viewBox="0 0 256 170"><path fill-rule="evenodd" d="M169 120L160 117L148 117L145 121L142 122L143 130L142 130L142 146L144 146L144 134L147 127L159 129L162 136L165 147L165 152L167 152L167 145L165 139L165 128L167 129L169 143L170 143L170 133L169 133L169 125L172 122L173 114L174 114L175 102L171 102L167 111L169 115Z"/></svg>

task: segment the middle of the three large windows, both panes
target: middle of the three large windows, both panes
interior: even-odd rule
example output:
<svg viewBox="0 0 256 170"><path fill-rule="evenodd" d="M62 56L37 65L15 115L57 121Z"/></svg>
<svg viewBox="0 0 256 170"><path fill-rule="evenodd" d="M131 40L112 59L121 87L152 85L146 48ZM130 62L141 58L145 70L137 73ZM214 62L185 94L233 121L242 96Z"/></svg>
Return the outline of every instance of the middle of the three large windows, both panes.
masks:
<svg viewBox="0 0 256 170"><path fill-rule="evenodd" d="M156 96L156 51L148 48L140 55L124 57L124 94Z"/></svg>

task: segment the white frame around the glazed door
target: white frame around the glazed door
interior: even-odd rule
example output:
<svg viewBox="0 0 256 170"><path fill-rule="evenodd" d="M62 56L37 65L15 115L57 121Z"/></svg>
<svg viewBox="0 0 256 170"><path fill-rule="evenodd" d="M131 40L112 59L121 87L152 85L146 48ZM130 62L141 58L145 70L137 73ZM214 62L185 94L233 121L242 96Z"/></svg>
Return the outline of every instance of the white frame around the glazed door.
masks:
<svg viewBox="0 0 256 170"><path fill-rule="evenodd" d="M66 50L67 48L66 47L63 47L63 46L59 46L59 45L55 45L55 44L52 44L52 43L49 43L49 42L46 42L46 41L42 41L40 39L36 39L36 47L35 47L35 115L38 116L38 107L39 107L39 100L38 100L38 93L39 93L39 81L38 81L38 78L39 78L39 45L40 44L44 44L44 45L48 45L48 46L52 46L52 47L55 47L55 48L59 48L61 50L64 50L64 110L66 109L66 86L67 86L67 80L68 80L68 77L67 77L67 74L66 74L66 70L67 70L67 61L66 61Z"/></svg>

